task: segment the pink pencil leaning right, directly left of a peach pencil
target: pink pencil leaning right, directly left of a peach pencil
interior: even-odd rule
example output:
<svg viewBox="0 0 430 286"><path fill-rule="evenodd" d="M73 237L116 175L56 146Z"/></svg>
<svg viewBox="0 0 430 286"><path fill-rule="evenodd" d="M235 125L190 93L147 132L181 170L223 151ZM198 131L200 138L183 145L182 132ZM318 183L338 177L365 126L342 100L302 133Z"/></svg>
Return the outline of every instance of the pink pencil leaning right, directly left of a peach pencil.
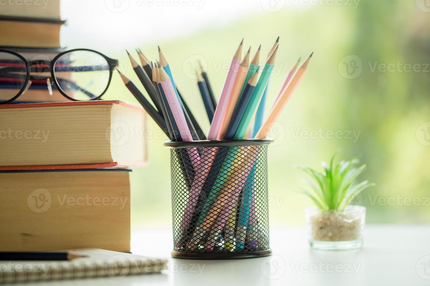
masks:
<svg viewBox="0 0 430 286"><path fill-rule="evenodd" d="M225 110L227 108L227 103L230 99L231 90L233 90L234 81L236 80L237 72L239 72L240 55L242 54L242 44L243 39L242 42L240 42L239 48L237 48L237 51L233 56L233 60L231 60L230 70L228 71L227 78L224 82L221 97L215 109L215 114L212 119L211 127L209 128L208 140L216 140L218 137L221 122L224 117Z"/></svg>

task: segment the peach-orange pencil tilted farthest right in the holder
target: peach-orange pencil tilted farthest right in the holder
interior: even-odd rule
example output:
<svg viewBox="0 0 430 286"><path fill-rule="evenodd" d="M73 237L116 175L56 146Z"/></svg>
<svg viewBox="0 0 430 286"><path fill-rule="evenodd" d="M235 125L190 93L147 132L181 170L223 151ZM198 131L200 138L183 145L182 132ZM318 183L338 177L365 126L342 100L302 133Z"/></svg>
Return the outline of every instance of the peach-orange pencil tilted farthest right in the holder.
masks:
<svg viewBox="0 0 430 286"><path fill-rule="evenodd" d="M273 124L278 119L279 115L283 111L283 108L292 96L292 93L295 91L296 87L306 73L307 66L309 65L309 61L312 55L313 53L310 54L310 56L304 61L304 63L301 65L301 67L295 74L294 78L291 80L291 83L285 88L282 96L278 99L278 101L276 101L276 105L273 106L269 116L266 118L260 130L258 130L257 134L255 135L255 138L266 138L267 134L269 134Z"/></svg>

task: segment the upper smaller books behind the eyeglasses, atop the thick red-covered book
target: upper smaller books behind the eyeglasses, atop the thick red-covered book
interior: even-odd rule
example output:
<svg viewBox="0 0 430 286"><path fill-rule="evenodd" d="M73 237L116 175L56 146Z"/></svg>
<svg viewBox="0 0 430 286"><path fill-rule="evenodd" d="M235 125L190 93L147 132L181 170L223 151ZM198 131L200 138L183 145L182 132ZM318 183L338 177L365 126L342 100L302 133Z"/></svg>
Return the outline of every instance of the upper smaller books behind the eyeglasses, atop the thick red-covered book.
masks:
<svg viewBox="0 0 430 286"><path fill-rule="evenodd" d="M0 48L15 51L28 61L52 60L64 51L60 45L60 29L65 21L60 16L60 0L17 5L5 2L0 9ZM52 96L46 81L33 81L30 89L14 103L67 101L55 87ZM1 99L1 94L0 94Z"/></svg>

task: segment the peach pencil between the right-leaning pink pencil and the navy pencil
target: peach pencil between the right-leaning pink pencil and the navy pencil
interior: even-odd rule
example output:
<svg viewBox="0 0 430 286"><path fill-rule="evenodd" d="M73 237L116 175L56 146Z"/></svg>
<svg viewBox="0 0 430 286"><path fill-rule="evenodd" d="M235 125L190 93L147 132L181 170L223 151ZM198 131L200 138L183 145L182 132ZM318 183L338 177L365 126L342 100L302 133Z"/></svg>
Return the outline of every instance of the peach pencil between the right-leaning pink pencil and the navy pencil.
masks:
<svg viewBox="0 0 430 286"><path fill-rule="evenodd" d="M251 51L251 47L249 47L248 52L246 53L245 57L242 60L242 63L240 63L239 71L237 72L237 76L233 84L233 89L231 90L231 95L230 95L230 98L228 99L227 107L224 112L224 117L222 118L222 121L221 121L221 126L217 137L218 140L224 139L224 135L225 135L225 132L227 131L228 124L230 123L231 117L233 115L234 108L237 105L237 99L239 98L240 90L244 85L243 83L244 83L246 74L248 73L250 51Z"/></svg>

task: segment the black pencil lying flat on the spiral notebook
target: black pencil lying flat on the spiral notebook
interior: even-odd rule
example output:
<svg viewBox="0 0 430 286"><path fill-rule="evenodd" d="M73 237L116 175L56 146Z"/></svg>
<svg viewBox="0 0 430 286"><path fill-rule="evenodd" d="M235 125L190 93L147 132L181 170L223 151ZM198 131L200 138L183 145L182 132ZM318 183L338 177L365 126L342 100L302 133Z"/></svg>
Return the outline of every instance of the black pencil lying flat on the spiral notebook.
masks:
<svg viewBox="0 0 430 286"><path fill-rule="evenodd" d="M56 252L0 252L0 260L72 260L88 257L68 251Z"/></svg>

